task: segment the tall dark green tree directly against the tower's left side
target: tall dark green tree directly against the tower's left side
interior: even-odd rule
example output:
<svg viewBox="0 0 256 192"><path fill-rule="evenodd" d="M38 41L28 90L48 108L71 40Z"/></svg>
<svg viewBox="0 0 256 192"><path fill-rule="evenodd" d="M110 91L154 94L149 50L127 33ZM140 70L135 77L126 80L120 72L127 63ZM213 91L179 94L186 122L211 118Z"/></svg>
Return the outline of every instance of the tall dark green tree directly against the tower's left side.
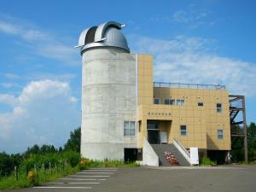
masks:
<svg viewBox="0 0 256 192"><path fill-rule="evenodd" d="M81 127L70 132L70 138L64 145L64 150L73 150L80 153Z"/></svg>

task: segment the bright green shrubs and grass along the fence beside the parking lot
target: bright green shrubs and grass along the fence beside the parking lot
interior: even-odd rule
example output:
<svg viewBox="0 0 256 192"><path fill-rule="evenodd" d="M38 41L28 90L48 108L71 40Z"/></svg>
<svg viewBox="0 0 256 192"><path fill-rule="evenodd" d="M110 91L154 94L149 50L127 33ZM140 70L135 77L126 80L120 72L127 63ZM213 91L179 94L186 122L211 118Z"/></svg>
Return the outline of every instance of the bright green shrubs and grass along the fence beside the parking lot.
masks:
<svg viewBox="0 0 256 192"><path fill-rule="evenodd" d="M9 177L0 177L0 190L35 186L79 172L80 159L80 154L73 151L55 154L27 154L26 159L18 167L18 180L15 180L13 172ZM51 169L49 169L49 162ZM35 170L35 164L37 170Z"/></svg>

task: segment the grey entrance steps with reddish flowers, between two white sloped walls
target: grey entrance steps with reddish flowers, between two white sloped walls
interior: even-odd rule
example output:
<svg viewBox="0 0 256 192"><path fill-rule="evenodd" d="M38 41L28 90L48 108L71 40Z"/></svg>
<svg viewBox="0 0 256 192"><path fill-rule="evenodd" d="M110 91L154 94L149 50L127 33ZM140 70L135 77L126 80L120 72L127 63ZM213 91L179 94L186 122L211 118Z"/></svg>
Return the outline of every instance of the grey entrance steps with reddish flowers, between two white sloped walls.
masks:
<svg viewBox="0 0 256 192"><path fill-rule="evenodd" d="M159 157L160 166L177 166L175 165L175 159L178 162L178 166L190 166L189 162L173 144L151 144L151 146ZM172 156L173 165L166 160L166 156Z"/></svg>

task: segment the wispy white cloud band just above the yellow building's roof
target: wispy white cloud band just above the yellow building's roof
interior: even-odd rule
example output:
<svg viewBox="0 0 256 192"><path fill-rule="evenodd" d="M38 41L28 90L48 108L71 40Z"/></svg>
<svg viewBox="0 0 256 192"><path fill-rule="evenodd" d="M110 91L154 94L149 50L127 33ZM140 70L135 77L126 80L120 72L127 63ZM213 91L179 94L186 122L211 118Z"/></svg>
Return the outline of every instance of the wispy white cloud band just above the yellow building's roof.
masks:
<svg viewBox="0 0 256 192"><path fill-rule="evenodd" d="M154 81L225 84L232 94L256 96L256 63L212 54L215 40L130 38L134 49L154 55Z"/></svg>

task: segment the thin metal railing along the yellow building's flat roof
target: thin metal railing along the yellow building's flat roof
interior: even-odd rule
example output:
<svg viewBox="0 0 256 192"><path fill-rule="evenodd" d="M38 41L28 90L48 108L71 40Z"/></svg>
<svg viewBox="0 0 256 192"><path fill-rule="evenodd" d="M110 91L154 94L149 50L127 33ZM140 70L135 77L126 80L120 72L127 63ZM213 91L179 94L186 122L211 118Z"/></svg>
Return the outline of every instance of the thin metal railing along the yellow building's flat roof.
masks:
<svg viewBox="0 0 256 192"><path fill-rule="evenodd" d="M220 84L183 84L183 83L154 82L154 87L225 90L225 86Z"/></svg>

